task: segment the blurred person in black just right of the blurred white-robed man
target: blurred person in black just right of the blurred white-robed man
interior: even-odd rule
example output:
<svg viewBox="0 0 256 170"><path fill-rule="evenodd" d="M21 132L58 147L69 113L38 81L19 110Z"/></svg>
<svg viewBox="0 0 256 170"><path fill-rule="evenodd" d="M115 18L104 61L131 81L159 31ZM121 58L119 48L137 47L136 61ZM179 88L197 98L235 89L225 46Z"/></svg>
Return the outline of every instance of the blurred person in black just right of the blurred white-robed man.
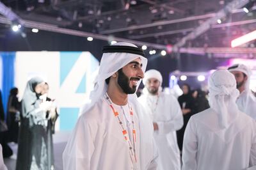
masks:
<svg viewBox="0 0 256 170"><path fill-rule="evenodd" d="M190 86L188 84L183 84L181 89L183 91L183 94L178 98L178 101L183 114L184 125L180 130L177 131L177 141L178 141L180 151L182 151L183 136L184 136L185 128L188 124L189 118L193 114L195 114L195 105L193 103L194 99L191 95Z"/></svg>

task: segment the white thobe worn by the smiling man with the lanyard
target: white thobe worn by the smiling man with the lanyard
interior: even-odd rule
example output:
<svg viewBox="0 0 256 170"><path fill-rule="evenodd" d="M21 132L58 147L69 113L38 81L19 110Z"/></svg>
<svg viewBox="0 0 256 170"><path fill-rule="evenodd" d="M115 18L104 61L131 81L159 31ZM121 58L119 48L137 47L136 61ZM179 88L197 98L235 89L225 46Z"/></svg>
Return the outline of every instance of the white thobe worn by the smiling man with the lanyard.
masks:
<svg viewBox="0 0 256 170"><path fill-rule="evenodd" d="M137 107L130 102L129 104L134 113L138 170L156 169L157 153L154 148L150 118L143 110L138 112L138 104ZM127 127L122 107L113 105ZM124 106L124 110L127 111L127 106ZM128 116L129 114L127 118ZM101 98L80 116L63 152L63 168L65 170L130 170L134 168L122 128L105 98Z"/></svg>

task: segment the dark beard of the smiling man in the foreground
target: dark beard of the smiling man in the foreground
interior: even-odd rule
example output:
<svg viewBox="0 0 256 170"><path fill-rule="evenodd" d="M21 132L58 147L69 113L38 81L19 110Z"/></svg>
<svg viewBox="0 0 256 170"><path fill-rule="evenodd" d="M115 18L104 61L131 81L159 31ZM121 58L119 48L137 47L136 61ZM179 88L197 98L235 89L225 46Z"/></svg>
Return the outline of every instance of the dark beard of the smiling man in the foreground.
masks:
<svg viewBox="0 0 256 170"><path fill-rule="evenodd" d="M140 81L140 79L136 78L136 77L131 77L131 79L129 80L129 77L127 77L124 74L122 68L120 70L118 70L117 83L122 88L124 93L126 93L126 94L135 93L137 86L132 86L132 88L129 86L129 82L132 81L132 80Z"/></svg>

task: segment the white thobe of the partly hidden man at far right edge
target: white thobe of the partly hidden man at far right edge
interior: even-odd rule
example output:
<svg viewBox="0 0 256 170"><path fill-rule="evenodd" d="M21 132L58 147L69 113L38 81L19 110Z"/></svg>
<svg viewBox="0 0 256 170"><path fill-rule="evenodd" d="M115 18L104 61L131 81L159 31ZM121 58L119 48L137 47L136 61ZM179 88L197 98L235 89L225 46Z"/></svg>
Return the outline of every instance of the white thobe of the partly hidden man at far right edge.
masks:
<svg viewBox="0 0 256 170"><path fill-rule="evenodd" d="M236 100L238 109L256 120L256 98L251 91L242 91Z"/></svg>

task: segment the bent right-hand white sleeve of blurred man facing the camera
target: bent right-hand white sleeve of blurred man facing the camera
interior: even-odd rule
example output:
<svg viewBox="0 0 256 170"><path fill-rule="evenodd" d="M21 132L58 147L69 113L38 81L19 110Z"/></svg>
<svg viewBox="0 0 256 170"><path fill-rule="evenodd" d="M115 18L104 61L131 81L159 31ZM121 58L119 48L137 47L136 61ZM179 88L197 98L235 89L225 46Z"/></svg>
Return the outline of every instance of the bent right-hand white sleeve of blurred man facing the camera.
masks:
<svg viewBox="0 0 256 170"><path fill-rule="evenodd" d="M169 132L179 130L183 126L183 116L179 102L176 98L172 96L170 96L170 98L172 98L172 100L169 99L170 102L169 105L167 105L167 107L171 107L171 119L156 122L158 125L159 134L168 134Z"/></svg>

